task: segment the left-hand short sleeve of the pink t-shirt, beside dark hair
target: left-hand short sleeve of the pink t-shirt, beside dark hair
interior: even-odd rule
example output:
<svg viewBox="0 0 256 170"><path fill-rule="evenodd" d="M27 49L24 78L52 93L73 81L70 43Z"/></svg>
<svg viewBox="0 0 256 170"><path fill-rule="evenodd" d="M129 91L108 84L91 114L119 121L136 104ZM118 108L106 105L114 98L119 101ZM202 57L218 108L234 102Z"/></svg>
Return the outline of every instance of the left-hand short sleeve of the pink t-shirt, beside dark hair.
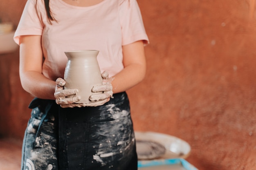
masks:
<svg viewBox="0 0 256 170"><path fill-rule="evenodd" d="M40 3L40 0L38 0ZM14 41L20 44L21 35L42 35L43 24L36 10L36 0L28 0L14 34Z"/></svg>

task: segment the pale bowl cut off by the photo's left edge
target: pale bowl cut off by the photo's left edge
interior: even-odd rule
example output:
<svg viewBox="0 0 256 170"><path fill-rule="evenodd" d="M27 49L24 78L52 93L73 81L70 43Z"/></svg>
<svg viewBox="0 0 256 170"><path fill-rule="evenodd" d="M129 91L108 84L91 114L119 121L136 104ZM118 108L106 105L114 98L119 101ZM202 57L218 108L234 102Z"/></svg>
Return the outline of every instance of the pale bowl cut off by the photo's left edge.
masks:
<svg viewBox="0 0 256 170"><path fill-rule="evenodd" d="M14 31L0 34L0 54L11 53L18 48L13 40Z"/></svg>

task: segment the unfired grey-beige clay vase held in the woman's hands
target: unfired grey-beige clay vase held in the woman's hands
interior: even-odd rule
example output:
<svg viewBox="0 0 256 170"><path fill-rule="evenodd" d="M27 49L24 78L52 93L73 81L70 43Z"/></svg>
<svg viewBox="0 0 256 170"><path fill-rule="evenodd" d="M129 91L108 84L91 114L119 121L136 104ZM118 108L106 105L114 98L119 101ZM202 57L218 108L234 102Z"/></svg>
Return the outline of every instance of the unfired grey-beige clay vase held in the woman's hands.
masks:
<svg viewBox="0 0 256 170"><path fill-rule="evenodd" d="M65 51L67 65L64 72L64 89L77 88L81 100L76 103L91 103L92 87L102 84L101 71L97 61L97 50Z"/></svg>

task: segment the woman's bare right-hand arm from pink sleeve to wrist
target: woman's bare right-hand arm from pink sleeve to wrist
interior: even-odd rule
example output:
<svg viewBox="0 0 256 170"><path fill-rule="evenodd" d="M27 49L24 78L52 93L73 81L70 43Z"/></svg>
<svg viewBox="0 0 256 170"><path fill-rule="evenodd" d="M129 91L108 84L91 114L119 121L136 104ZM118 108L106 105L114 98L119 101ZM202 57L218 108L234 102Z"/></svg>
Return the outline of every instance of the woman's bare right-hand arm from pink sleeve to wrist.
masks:
<svg viewBox="0 0 256 170"><path fill-rule="evenodd" d="M124 69L114 76L113 93L126 91L139 82L146 74L146 58L143 41L137 41L123 46Z"/></svg>

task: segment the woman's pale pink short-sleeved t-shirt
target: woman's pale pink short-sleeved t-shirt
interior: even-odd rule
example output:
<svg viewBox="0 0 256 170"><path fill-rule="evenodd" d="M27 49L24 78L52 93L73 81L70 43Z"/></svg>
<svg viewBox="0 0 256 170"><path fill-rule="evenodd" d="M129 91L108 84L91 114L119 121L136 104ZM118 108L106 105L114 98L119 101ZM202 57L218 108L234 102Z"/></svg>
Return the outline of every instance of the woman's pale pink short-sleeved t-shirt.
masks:
<svg viewBox="0 0 256 170"><path fill-rule="evenodd" d="M101 72L110 76L123 68L122 46L138 40L148 43L136 0L103 0L90 7L76 7L63 0L50 0L57 22L49 24L43 0L28 0L14 41L20 35L42 35L43 75L63 77L67 57L64 51L99 50Z"/></svg>

